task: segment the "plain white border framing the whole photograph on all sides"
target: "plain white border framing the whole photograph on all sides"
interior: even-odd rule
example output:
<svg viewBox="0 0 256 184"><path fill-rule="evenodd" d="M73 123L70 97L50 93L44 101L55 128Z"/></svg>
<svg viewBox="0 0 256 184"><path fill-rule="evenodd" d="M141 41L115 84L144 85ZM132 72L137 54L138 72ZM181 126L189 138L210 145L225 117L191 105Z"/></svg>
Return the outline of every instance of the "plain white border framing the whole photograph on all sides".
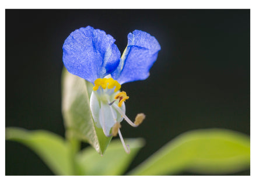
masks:
<svg viewBox="0 0 256 184"><path fill-rule="evenodd" d="M3 9L4 8L4 9ZM253 1L1 1L1 118L5 125L5 9L251 9L251 176L4 176L5 152L1 151L1 183L253 183L255 179L255 9ZM3 90L4 86L4 90ZM1 147L5 147L3 126ZM3 144L2 144L3 143Z"/></svg>

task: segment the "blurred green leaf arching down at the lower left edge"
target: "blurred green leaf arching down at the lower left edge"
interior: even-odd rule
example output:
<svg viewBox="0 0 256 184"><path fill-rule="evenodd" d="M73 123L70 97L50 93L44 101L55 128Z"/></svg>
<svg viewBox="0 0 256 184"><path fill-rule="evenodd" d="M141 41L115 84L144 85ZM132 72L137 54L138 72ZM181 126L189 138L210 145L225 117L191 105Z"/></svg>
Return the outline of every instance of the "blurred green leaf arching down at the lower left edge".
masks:
<svg viewBox="0 0 256 184"><path fill-rule="evenodd" d="M69 145L62 137L45 130L28 131L21 128L6 128L5 139L17 141L31 148L54 174L73 174Z"/></svg>

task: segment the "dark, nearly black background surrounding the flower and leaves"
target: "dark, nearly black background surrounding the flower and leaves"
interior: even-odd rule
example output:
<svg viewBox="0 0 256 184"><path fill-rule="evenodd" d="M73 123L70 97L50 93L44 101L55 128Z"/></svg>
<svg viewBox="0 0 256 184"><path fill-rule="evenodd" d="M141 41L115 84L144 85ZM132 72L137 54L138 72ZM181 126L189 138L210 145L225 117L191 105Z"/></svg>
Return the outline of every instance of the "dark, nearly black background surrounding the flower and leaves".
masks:
<svg viewBox="0 0 256 184"><path fill-rule="evenodd" d="M8 9L6 127L64 136L62 44L72 31L88 25L113 36L121 53L135 29L155 36L162 47L148 79L122 85L130 97L127 115L146 114L139 128L122 123L124 137L146 140L129 169L188 130L225 128L250 135L248 9ZM29 148L12 141L5 145L6 175L52 175ZM250 170L237 175L250 175Z"/></svg>

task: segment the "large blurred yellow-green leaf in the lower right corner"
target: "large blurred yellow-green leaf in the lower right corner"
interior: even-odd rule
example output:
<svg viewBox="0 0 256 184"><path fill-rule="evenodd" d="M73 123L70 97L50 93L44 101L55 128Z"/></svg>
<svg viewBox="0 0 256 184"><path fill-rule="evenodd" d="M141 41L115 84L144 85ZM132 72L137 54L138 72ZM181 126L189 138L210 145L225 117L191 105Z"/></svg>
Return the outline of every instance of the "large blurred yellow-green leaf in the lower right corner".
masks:
<svg viewBox="0 0 256 184"><path fill-rule="evenodd" d="M250 137L232 130L205 129L178 136L129 174L228 174L248 168Z"/></svg>

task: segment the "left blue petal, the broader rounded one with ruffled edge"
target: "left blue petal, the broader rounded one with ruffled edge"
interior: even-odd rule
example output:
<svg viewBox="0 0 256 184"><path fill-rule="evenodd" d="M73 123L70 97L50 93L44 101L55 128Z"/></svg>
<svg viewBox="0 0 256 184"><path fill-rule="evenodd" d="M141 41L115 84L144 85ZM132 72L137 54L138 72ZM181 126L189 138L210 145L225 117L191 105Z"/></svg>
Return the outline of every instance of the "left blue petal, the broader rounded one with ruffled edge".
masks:
<svg viewBox="0 0 256 184"><path fill-rule="evenodd" d="M120 63L114 42L112 36L90 26L73 31L63 45L66 69L91 83L112 73Z"/></svg>

